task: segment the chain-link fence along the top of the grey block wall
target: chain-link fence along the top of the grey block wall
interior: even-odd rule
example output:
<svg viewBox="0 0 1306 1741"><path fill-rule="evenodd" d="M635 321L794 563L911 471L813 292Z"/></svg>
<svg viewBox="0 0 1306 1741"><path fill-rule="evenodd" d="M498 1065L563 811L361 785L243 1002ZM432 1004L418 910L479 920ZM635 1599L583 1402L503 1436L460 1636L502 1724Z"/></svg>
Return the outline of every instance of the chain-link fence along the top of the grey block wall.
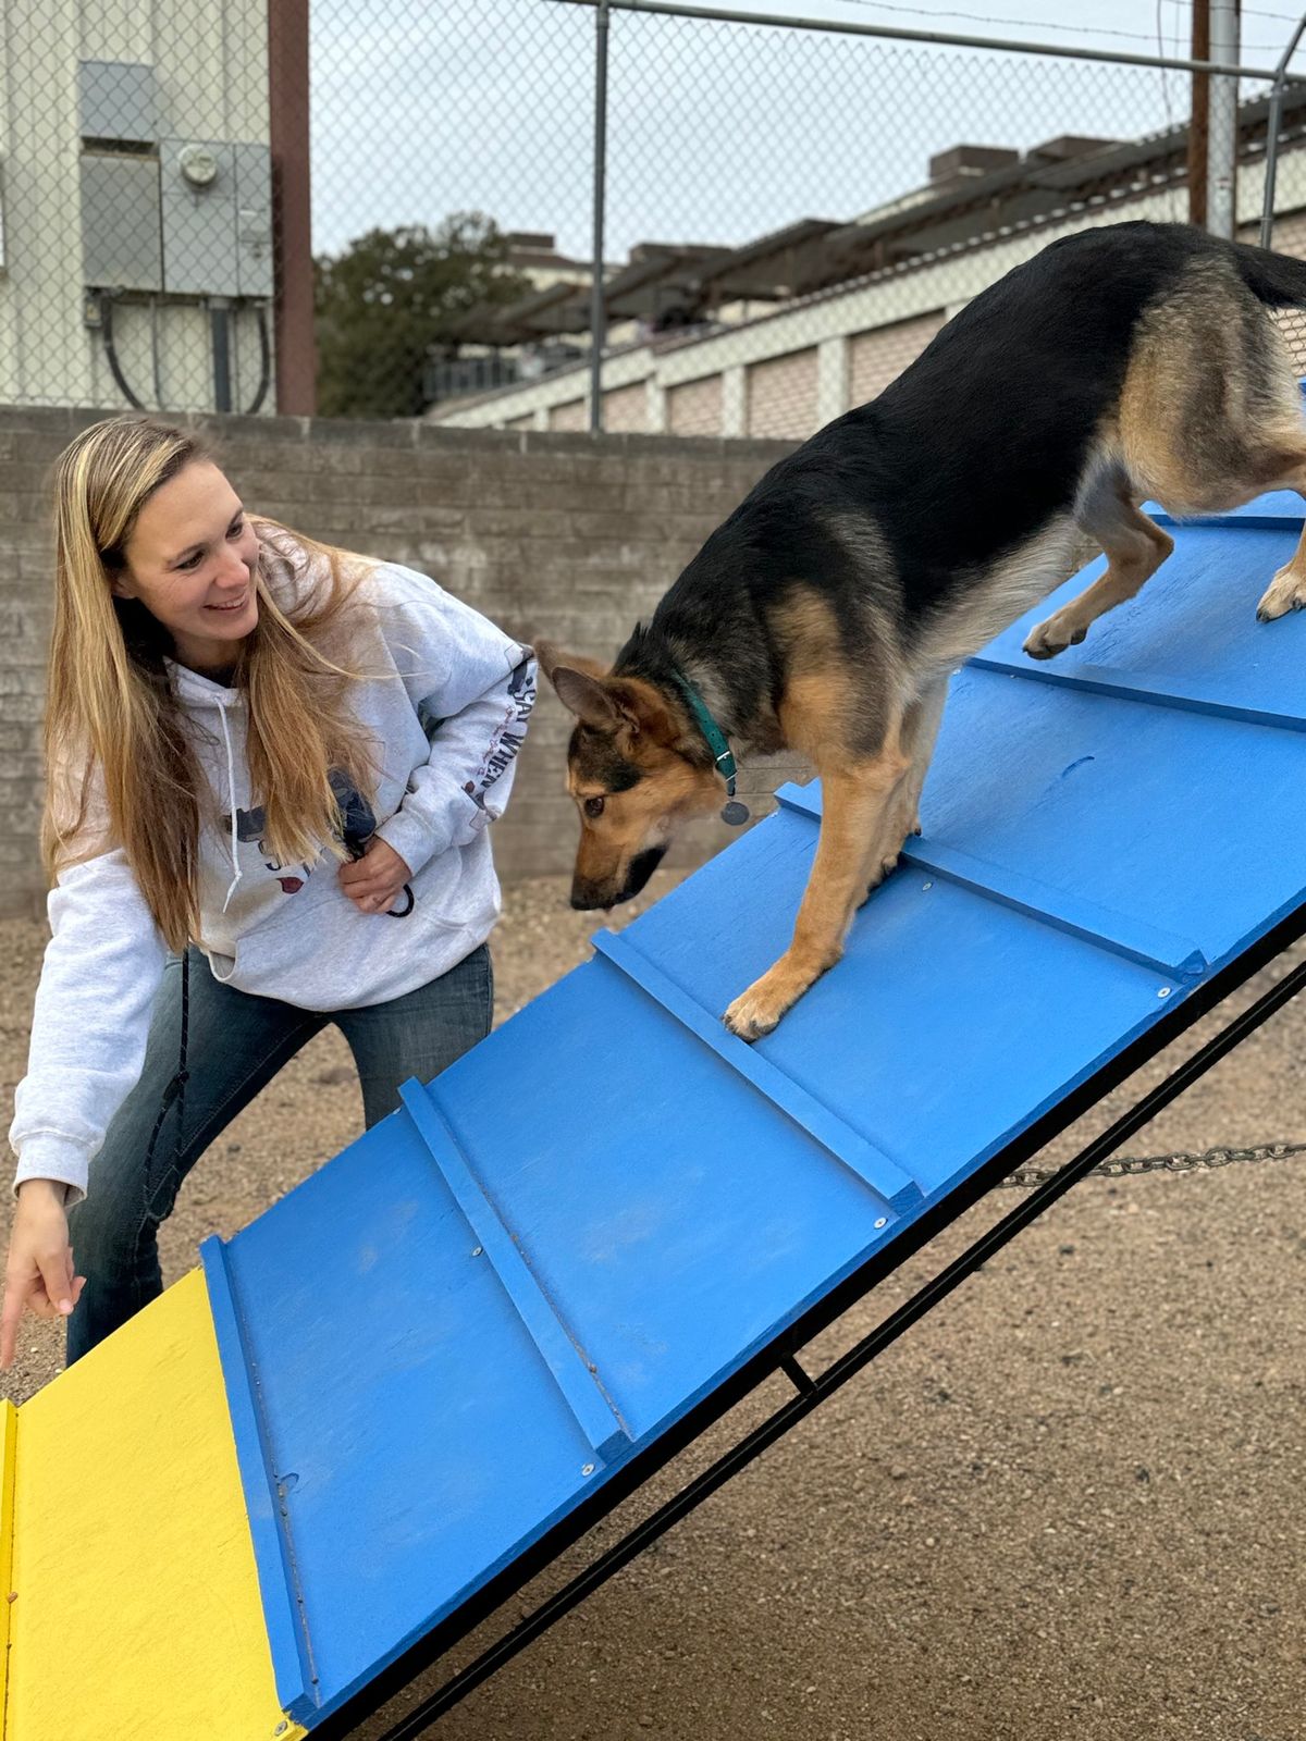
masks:
<svg viewBox="0 0 1306 1741"><path fill-rule="evenodd" d="M594 0L7 0L0 402L589 428L597 37ZM1186 71L620 0L606 40L608 430L808 435L1054 235L1189 211ZM1306 85L1275 205L1306 254Z"/></svg>

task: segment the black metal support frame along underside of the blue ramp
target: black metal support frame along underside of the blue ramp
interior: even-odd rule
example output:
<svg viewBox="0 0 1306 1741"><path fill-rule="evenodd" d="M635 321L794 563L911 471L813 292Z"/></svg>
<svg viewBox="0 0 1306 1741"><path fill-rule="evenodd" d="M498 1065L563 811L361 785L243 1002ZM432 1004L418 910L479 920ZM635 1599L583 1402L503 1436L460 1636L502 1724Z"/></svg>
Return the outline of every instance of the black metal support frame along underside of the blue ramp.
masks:
<svg viewBox="0 0 1306 1741"><path fill-rule="evenodd" d="M467 1668L453 1675L437 1692L423 1699L413 1711L399 1718L385 1731L381 1741L414 1741L416 1736L442 1717L451 1706L463 1699L474 1687L508 1663L519 1650L562 1619L576 1603L606 1583L650 1543L693 1511L709 1494L754 1461L768 1445L775 1443L789 1428L811 1414L827 1396L855 1377L876 1354L895 1342L904 1330L923 1318L933 1306L946 1299L966 1276L984 1264L994 1252L1001 1250L1008 1240L1015 1238L1022 1227L1036 1220L1059 1196L1071 1189L1085 1173L1092 1172L1121 1142L1127 1142L1137 1130L1153 1119L1163 1107L1175 1100L1214 1064L1219 1064L1235 1046L1238 1046L1264 1020L1275 1015L1306 985L1306 963L1296 966L1278 984L1271 985L1242 1015L1235 1017L1228 1027L1198 1048L1189 1059L1179 1064L1161 1083L1142 1095L1127 1112L1095 1137L1074 1160L1067 1161L1060 1172L1033 1189L1017 1208L987 1229L959 1257L947 1264L937 1276L925 1283L909 1301L899 1306L881 1325L869 1332L852 1349L834 1360L817 1377L804 1372L796 1358L796 1351L815 1335L834 1323L850 1306L871 1292L885 1276L899 1269L914 1257L921 1247L928 1245L939 1233L958 1220L968 1208L987 1194L1000 1179L1022 1166L1031 1156L1043 1149L1054 1137L1067 1130L1078 1118L1090 1111L1104 1095L1111 1093L1141 1065L1148 1064L1168 1045L1179 1039L1195 1022L1217 1008L1231 992L1247 984L1254 973L1268 966L1283 949L1306 935L1306 905L1297 907L1268 931L1249 951L1224 966L1219 973L1195 987L1182 1003L1175 1005L1148 1032L1141 1034L1116 1059L1081 1083L1055 1107L1050 1107L1020 1137L1006 1144L998 1154L986 1161L968 1179L965 1179L942 1201L933 1203L909 1227L905 1227L888 1248L871 1257L860 1269L834 1287L825 1299L810 1307L789 1330L782 1332L764 1349L759 1349L733 1377L719 1389L705 1396L684 1419L669 1428L656 1443L648 1445L627 1464L616 1469L594 1496L583 1501L573 1513L562 1518L533 1548L522 1553L512 1565L507 1565L482 1590L470 1596L454 1614L418 1640L404 1656L397 1657L374 1680L360 1689L340 1710L315 1725L310 1734L313 1741L347 1741L348 1734L395 1694L432 1666L441 1656L453 1649L474 1628L493 1614L496 1607L515 1595L524 1584L536 1577L547 1565L557 1560L573 1543L576 1543L601 1518L630 1497L644 1482L662 1469L672 1457L679 1455L707 1428L714 1426L724 1414L754 1391L763 1381L777 1372L784 1372L794 1384L794 1396L759 1426L747 1433L724 1455L717 1457L710 1468L695 1476L672 1499L660 1506L651 1516L637 1523L622 1541L608 1548L597 1560L578 1572L562 1590L549 1596L538 1609L526 1616L515 1628L496 1640L488 1650L477 1656Z"/></svg>

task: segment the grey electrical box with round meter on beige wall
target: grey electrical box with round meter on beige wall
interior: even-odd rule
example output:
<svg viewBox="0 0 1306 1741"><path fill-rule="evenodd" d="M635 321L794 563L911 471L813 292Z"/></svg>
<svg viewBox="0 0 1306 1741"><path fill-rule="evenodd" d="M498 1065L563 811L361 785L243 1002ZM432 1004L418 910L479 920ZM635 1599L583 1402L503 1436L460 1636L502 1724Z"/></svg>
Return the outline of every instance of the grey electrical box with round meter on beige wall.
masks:
<svg viewBox="0 0 1306 1741"><path fill-rule="evenodd" d="M164 289L272 296L272 153L266 145L160 139Z"/></svg>

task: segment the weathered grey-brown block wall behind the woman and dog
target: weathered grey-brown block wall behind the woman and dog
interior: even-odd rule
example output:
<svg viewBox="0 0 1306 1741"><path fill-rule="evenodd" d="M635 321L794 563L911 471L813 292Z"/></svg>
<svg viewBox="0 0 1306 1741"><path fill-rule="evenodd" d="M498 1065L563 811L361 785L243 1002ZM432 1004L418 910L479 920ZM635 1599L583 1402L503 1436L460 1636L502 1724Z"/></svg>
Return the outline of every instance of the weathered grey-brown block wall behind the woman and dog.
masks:
<svg viewBox="0 0 1306 1741"><path fill-rule="evenodd" d="M99 413L0 407L0 916L44 898L40 717L50 623L47 474ZM432 575L508 634L609 656L648 616L780 442L658 435L441 430L416 421L193 420L251 508L319 538ZM562 790L569 719L536 709L508 815L495 829L505 877L569 870L576 817ZM770 808L794 763L754 764L749 803ZM728 830L702 825L679 851L705 857Z"/></svg>

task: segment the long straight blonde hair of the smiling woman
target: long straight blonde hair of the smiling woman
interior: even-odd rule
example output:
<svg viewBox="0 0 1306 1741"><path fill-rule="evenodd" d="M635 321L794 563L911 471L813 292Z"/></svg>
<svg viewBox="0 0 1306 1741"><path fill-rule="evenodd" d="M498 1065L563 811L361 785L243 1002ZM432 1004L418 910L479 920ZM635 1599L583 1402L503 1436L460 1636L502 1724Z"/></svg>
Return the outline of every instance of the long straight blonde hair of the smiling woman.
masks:
<svg viewBox="0 0 1306 1741"><path fill-rule="evenodd" d="M54 634L45 705L42 853L63 869L122 848L171 949L200 930L199 837L211 804L164 658L167 630L115 575L145 503L185 467L211 461L188 430L120 416L84 430L54 474ZM235 682L249 702L247 759L268 853L282 864L336 850L333 768L373 789L371 745L345 705L357 676L324 651L367 561L251 515L259 538L258 627L242 642ZM282 609L268 580L312 569ZM94 815L92 815L94 811Z"/></svg>

